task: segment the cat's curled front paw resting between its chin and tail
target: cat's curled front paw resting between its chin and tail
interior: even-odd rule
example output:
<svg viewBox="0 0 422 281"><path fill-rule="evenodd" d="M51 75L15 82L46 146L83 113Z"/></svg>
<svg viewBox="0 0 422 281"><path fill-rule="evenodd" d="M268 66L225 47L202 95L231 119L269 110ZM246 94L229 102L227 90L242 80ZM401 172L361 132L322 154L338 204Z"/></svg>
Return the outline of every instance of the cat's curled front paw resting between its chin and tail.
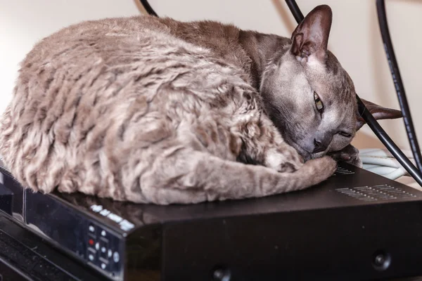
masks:
<svg viewBox="0 0 422 281"><path fill-rule="evenodd" d="M264 165L279 172L297 171L305 163L299 153L290 146L269 150Z"/></svg>

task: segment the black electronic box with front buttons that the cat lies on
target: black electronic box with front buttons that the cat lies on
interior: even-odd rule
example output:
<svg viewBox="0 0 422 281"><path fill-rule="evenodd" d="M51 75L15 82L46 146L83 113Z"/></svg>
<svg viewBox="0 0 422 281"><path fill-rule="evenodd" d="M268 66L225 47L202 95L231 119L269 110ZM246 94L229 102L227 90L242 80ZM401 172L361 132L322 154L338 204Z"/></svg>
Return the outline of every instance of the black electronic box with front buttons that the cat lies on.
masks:
<svg viewBox="0 0 422 281"><path fill-rule="evenodd" d="M348 164L299 192L170 206L43 195L0 175L3 216L105 280L422 275L422 191Z"/></svg>

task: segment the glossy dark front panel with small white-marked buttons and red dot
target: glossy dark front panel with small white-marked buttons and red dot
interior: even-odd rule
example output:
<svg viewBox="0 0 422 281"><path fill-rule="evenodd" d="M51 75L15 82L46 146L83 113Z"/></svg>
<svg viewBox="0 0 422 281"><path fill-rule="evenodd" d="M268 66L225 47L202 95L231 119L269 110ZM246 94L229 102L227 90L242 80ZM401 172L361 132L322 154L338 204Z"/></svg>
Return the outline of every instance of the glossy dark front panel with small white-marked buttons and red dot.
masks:
<svg viewBox="0 0 422 281"><path fill-rule="evenodd" d="M25 223L107 277L122 280L120 256L124 256L124 237L121 231L57 197L29 190L25 196Z"/></svg>

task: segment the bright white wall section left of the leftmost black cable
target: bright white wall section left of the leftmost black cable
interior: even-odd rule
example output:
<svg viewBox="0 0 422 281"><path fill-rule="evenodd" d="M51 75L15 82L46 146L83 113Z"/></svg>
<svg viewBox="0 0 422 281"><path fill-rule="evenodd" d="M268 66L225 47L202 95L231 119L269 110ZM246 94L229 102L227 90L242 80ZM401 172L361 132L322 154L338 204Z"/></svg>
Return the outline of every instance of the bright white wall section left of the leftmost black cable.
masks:
<svg viewBox="0 0 422 281"><path fill-rule="evenodd" d="M0 0L0 112L11 98L18 64L32 46L82 20L137 15L134 0Z"/></svg>

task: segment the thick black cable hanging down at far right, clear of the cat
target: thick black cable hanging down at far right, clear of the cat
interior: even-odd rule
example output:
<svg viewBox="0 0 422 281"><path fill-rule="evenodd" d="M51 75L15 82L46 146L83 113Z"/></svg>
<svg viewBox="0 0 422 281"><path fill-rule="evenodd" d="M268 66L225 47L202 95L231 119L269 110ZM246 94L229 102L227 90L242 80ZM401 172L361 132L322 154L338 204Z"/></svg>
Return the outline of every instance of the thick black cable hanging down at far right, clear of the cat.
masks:
<svg viewBox="0 0 422 281"><path fill-rule="evenodd" d="M392 75L392 81L395 84L397 98L399 100L400 109L402 110L404 127L406 128L407 138L409 139L411 152L413 152L416 166L419 171L422 171L422 157L421 150L418 145L418 139L414 129L414 124L411 119L409 104L407 103L406 93L404 92L404 85L402 77L399 72L399 66L395 58L394 48L388 30L387 15L385 13L385 1L376 0L376 11L378 13L378 22L381 30L381 37L383 38L385 54L387 55L388 65Z"/></svg>

